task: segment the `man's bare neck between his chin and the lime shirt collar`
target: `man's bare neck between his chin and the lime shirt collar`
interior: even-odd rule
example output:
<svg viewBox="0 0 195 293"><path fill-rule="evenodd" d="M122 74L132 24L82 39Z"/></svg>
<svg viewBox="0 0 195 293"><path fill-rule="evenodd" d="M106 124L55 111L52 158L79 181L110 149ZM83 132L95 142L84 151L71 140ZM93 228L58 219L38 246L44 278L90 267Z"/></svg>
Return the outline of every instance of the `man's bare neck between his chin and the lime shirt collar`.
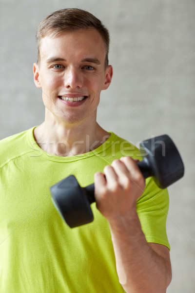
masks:
<svg viewBox="0 0 195 293"><path fill-rule="evenodd" d="M96 149L110 134L93 123L44 121L34 129L37 144L47 153L57 156L75 156Z"/></svg>

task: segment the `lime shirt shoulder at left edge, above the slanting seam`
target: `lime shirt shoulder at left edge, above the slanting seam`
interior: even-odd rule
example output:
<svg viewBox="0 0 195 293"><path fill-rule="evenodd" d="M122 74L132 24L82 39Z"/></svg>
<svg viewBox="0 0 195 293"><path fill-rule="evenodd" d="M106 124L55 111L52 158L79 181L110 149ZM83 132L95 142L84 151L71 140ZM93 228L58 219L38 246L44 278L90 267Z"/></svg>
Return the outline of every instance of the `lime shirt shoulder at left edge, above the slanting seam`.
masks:
<svg viewBox="0 0 195 293"><path fill-rule="evenodd" d="M0 140L0 167L16 157L31 151L28 136L29 133L32 133L33 128Z"/></svg>

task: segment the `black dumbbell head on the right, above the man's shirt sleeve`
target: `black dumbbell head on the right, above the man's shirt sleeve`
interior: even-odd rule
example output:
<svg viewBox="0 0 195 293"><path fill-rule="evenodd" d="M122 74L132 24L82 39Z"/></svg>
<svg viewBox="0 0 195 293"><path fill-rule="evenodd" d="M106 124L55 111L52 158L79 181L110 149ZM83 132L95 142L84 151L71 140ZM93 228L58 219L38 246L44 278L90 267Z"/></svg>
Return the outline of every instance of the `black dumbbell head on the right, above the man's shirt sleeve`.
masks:
<svg viewBox="0 0 195 293"><path fill-rule="evenodd" d="M143 160L137 165L144 178L152 176L159 188L167 188L183 177L183 162L167 134L144 140L139 146Z"/></svg>

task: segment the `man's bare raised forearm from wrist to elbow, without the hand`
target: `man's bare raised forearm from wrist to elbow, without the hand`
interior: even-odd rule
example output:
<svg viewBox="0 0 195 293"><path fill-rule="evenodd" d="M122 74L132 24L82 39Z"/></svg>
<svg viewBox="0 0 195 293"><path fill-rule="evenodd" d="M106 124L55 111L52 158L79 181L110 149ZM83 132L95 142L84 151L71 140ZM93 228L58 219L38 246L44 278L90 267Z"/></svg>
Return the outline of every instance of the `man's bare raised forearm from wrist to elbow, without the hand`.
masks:
<svg viewBox="0 0 195 293"><path fill-rule="evenodd" d="M110 223L119 282L127 293L165 293L169 264L146 242L135 212Z"/></svg>

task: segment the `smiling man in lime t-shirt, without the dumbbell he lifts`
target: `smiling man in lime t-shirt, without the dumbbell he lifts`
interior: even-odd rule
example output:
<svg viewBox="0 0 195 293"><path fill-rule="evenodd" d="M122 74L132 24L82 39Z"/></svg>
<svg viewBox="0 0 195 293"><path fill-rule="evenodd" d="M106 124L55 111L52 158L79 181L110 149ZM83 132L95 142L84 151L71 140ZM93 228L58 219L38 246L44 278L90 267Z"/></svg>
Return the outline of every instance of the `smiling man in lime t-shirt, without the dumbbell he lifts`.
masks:
<svg viewBox="0 0 195 293"><path fill-rule="evenodd" d="M37 41L45 120L0 142L1 293L166 292L167 190L151 178L145 186L137 148L96 121L113 75L107 29L63 9L40 23ZM74 229L49 192L70 174L81 186L95 180L98 208L93 223Z"/></svg>

